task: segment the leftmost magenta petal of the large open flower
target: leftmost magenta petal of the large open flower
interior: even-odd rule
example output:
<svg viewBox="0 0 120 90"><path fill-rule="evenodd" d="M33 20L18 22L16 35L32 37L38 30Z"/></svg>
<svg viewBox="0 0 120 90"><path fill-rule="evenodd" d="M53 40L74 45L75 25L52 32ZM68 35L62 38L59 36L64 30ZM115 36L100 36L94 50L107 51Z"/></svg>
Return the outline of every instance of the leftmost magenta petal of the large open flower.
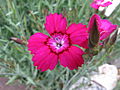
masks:
<svg viewBox="0 0 120 90"><path fill-rule="evenodd" d="M28 50L31 51L31 54L36 53L36 51L44 46L44 42L46 42L48 36L43 33L35 33L28 40Z"/></svg>

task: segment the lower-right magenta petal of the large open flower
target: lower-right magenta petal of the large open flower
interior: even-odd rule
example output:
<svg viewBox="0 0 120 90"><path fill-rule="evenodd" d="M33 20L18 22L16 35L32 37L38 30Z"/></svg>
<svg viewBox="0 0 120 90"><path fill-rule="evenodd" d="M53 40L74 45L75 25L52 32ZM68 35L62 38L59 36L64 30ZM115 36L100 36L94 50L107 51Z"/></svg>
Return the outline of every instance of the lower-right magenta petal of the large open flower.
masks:
<svg viewBox="0 0 120 90"><path fill-rule="evenodd" d="M77 67L80 67L84 63L83 54L84 52L80 48L71 46L68 51L59 55L60 64L68 67L70 70L77 69Z"/></svg>

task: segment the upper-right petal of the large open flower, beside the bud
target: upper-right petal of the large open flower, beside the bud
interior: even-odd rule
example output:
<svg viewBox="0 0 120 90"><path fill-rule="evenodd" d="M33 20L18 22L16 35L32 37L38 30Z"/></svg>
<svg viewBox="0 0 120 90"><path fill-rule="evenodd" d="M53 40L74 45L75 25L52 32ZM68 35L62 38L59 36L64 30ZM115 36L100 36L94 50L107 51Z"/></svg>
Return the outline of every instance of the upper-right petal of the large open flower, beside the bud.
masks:
<svg viewBox="0 0 120 90"><path fill-rule="evenodd" d="M72 44L78 44L81 47L87 48L88 32L86 25L83 25L81 23L71 24L68 27L66 33L70 35L70 40Z"/></svg>

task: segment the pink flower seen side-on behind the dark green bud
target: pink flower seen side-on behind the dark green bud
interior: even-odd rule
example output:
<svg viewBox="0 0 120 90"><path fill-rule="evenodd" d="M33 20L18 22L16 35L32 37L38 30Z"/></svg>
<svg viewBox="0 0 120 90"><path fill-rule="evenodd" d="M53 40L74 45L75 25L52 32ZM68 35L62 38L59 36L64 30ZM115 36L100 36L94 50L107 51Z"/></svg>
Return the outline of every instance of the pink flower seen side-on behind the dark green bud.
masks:
<svg viewBox="0 0 120 90"><path fill-rule="evenodd" d="M100 32L100 40L106 39L114 30L117 29L117 25L112 24L109 20L101 19L99 15L94 14L89 21L88 32L92 30L94 26L94 22L97 25L97 29Z"/></svg>

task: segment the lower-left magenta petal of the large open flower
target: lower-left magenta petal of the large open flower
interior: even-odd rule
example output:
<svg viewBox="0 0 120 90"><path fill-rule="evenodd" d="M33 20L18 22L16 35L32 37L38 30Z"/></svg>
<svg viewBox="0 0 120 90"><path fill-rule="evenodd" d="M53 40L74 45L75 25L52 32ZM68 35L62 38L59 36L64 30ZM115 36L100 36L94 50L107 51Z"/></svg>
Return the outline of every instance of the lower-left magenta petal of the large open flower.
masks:
<svg viewBox="0 0 120 90"><path fill-rule="evenodd" d="M32 58L34 66L41 71L53 70L58 62L58 57L50 52L49 47L41 47Z"/></svg>

